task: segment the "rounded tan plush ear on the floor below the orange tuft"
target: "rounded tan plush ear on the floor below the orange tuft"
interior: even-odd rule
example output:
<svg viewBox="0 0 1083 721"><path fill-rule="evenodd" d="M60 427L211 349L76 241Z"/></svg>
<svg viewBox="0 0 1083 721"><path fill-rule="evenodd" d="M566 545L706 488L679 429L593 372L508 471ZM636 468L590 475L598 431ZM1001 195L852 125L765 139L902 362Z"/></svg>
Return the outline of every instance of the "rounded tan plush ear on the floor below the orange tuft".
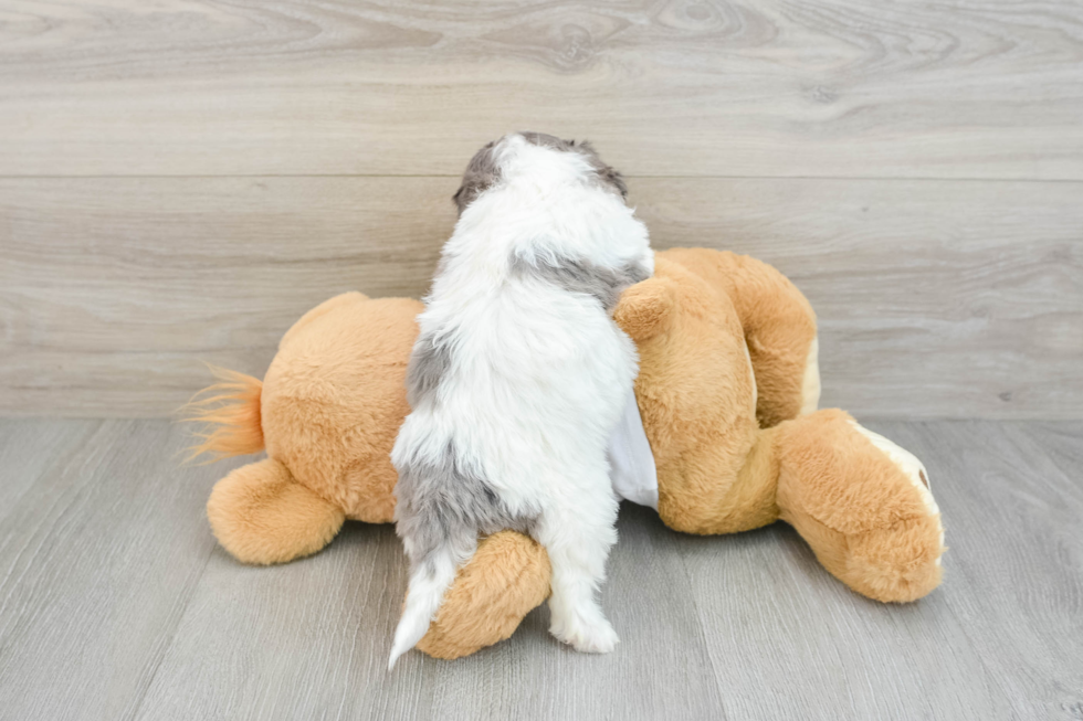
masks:
<svg viewBox="0 0 1083 721"><path fill-rule="evenodd" d="M207 518L218 542L239 561L265 565L319 551L346 517L267 458L218 481L207 501Z"/></svg>

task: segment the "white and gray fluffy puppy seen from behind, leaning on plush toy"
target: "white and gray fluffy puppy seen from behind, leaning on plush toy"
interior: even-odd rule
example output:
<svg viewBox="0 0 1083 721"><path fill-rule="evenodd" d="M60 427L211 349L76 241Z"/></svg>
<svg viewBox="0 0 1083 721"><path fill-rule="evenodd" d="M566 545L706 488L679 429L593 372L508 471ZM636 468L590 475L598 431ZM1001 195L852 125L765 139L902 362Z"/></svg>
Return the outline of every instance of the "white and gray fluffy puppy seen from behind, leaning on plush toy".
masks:
<svg viewBox="0 0 1083 721"><path fill-rule="evenodd" d="M548 552L553 635L583 651L618 642L596 598L617 540L606 449L638 358L610 314L654 271L625 192L588 144L537 132L488 144L466 169L391 453L410 590L389 668L479 536L505 528Z"/></svg>

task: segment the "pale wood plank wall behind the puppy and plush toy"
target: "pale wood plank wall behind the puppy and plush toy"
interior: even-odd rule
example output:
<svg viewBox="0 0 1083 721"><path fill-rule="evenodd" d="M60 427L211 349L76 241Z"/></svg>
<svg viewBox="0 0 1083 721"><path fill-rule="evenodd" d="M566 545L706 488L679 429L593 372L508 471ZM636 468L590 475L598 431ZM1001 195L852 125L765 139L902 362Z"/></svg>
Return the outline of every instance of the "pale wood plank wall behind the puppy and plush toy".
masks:
<svg viewBox="0 0 1083 721"><path fill-rule="evenodd" d="M0 0L0 413L168 414L334 293L422 293L513 129L792 277L827 404L1083 417L1069 0Z"/></svg>

